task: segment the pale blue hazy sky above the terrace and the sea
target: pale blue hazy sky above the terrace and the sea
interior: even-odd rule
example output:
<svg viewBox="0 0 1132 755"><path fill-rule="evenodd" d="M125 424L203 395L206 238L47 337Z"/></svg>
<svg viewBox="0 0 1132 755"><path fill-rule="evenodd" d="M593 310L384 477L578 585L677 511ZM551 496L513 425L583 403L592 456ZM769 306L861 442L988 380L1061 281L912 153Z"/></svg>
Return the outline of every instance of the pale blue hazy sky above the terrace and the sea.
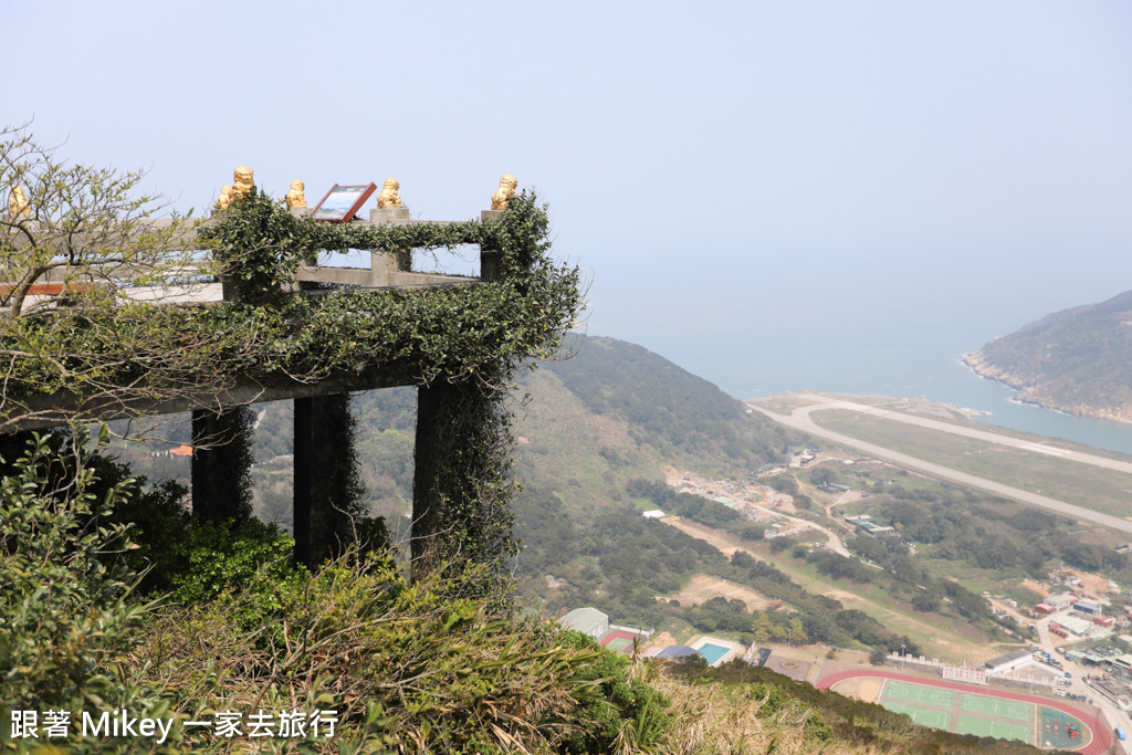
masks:
<svg viewBox="0 0 1132 755"><path fill-rule="evenodd" d="M1132 289L1132 3L7 3L3 121L180 207L511 172L590 331L1000 335ZM320 9L321 8L321 9ZM981 333L981 335L979 335ZM745 346L746 348L746 346Z"/></svg>

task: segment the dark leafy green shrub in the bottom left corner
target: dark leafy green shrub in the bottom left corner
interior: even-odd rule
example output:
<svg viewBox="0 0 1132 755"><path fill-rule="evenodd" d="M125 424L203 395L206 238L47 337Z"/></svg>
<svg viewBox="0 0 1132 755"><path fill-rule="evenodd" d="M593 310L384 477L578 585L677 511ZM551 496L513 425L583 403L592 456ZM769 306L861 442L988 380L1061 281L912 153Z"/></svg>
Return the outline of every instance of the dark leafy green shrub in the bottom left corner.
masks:
<svg viewBox="0 0 1132 755"><path fill-rule="evenodd" d="M137 647L152 606L130 602L137 576L118 558L132 546L112 523L132 480L95 495L88 436L74 431L66 453L35 436L0 480L0 727L11 711L128 709L168 717L161 685L134 683L120 659ZM36 741L36 740L33 740ZM76 753L148 750L151 744L67 741Z"/></svg>

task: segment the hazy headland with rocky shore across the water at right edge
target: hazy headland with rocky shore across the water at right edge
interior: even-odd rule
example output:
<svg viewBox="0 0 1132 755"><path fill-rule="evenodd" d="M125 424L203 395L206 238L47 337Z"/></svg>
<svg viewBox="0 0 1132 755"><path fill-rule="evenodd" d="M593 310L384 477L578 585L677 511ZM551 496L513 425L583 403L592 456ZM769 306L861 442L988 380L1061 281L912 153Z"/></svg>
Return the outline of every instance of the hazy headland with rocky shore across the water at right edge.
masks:
<svg viewBox="0 0 1132 755"><path fill-rule="evenodd" d="M964 361L1028 403L1132 422L1132 291L1048 315Z"/></svg>

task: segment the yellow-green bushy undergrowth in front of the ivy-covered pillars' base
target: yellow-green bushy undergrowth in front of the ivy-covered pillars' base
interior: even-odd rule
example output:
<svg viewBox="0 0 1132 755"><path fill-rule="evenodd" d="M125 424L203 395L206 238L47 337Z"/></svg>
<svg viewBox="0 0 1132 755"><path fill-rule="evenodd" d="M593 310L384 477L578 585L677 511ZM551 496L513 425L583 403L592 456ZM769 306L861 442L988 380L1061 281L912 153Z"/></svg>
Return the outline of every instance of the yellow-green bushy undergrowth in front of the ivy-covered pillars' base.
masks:
<svg viewBox="0 0 1132 755"><path fill-rule="evenodd" d="M409 583L392 556L350 552L272 591L275 610L257 577L164 612L130 662L189 713L326 701L343 752L649 752L664 701L627 659L492 611L475 568Z"/></svg>

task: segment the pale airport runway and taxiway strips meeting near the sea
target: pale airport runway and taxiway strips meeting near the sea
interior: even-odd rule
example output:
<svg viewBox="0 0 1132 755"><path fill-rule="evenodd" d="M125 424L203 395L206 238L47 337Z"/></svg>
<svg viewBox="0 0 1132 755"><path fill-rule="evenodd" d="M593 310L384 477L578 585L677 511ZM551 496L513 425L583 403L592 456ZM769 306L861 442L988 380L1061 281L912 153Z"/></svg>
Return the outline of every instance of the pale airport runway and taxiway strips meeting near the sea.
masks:
<svg viewBox="0 0 1132 755"><path fill-rule="evenodd" d="M933 462L927 462L921 458L916 458L915 456L909 456L908 454L902 454L898 451L890 451L876 444L872 444L865 440L858 440L857 438L851 438L841 432L834 432L833 430L826 430L820 427L817 423L811 419L809 413L815 410L821 409L852 409L861 407L863 410L868 410L868 413L880 413L884 412L886 419L897 419L900 421L910 421L914 424L920 424L921 427L931 427L932 429L945 429L946 431L952 430L963 430L960 435L966 435L967 428L958 428L953 424L946 424L945 422L936 422L934 420L926 420L916 417L907 417L904 414L899 414L897 412L885 412L883 409L874 409L872 406L865 406L864 404L854 404L852 402L841 402L835 398L826 398L825 396L806 396L807 398L820 401L818 404L812 404L809 406L801 406L794 410L790 414L779 414L778 412L772 412L767 409L763 409L757 403L748 403L748 406L755 409L766 417L771 418L775 422L786 424L787 427L795 428L796 430L801 430L803 432L808 432L811 435L817 436L818 438L825 438L826 440L832 440L833 443L847 446L849 448L856 448L861 451L869 456L875 458L883 458L885 461L892 462L900 466L906 466L911 470L918 470L931 474L934 478L941 480L950 480L952 482L958 482L959 484L964 484L971 488L978 488L979 490L986 490L993 492L997 496L1003 496L1005 498L1013 498L1023 504L1030 504L1034 506L1040 506L1041 508L1056 512L1058 514L1064 514L1075 520L1083 520L1087 522L1096 522L1097 524L1103 524L1104 526L1112 527L1114 530L1120 530L1122 532L1132 533L1132 522L1127 520L1122 520L1116 516L1109 516L1108 514L1101 514L1099 512L1094 512L1081 506L1075 506L1073 504L1065 503L1064 500L1057 500L1056 498L1049 498L1048 496L1043 496L1040 494L1030 492L1029 490L1022 490L1021 488L1013 488L1007 484L1002 484L1001 482L995 482L994 480L987 480L986 478L975 477L974 474L968 474L967 472L960 472L959 470L949 469L941 464L935 464ZM859 410L857 410L859 411ZM892 414L891 418L887 414ZM934 426L940 424L943 428L936 428ZM1001 436L993 432L985 432L984 430L969 430L970 432L977 432L981 435L994 436L995 441L1001 441L1004 445L1012 445L1011 443L1024 444L1028 446L1034 446L1035 444L1028 444L1027 441L1018 440L1017 438L1009 438L1007 436ZM1048 448L1053 448L1048 446ZM1034 451L1034 448L1029 448ZM1062 449L1058 449L1062 451ZM1100 456L1090 456L1088 454L1079 454L1077 452L1064 451L1063 458L1072 458L1073 461L1082 461L1083 463L1092 463L1097 466L1107 466L1108 469L1116 469L1121 471L1132 472L1132 465L1125 462L1117 462L1114 460L1103 458ZM1084 461L1084 458L1075 458L1077 456L1086 457L1092 461ZM1099 462L1104 462L1103 464ZM1130 469L1124 469L1130 467Z"/></svg>

